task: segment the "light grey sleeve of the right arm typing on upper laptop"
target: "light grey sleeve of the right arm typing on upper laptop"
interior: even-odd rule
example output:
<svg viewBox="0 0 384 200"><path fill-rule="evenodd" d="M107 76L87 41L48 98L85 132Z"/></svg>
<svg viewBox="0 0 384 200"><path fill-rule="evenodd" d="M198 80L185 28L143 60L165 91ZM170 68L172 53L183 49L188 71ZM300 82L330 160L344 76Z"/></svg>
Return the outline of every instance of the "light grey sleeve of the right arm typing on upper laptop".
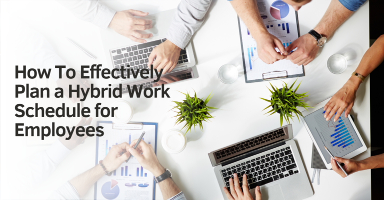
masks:
<svg viewBox="0 0 384 200"><path fill-rule="evenodd" d="M166 39L181 49L185 48L197 31L209 8L211 0L181 0L166 33Z"/></svg>

